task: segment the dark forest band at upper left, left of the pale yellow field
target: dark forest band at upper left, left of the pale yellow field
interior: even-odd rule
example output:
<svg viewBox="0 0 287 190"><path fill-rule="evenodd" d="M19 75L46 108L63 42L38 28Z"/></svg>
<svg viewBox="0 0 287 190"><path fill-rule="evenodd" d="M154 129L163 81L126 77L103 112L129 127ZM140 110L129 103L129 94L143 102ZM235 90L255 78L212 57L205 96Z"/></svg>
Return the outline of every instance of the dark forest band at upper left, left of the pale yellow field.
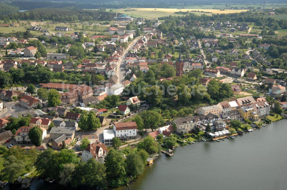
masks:
<svg viewBox="0 0 287 190"><path fill-rule="evenodd" d="M52 20L52 21L107 21L112 20L116 16L116 13L106 11L93 11L77 9L74 7L66 8L42 8L32 9L25 12L16 12L8 15L0 15L0 19L8 17L9 19L20 20Z"/></svg>

